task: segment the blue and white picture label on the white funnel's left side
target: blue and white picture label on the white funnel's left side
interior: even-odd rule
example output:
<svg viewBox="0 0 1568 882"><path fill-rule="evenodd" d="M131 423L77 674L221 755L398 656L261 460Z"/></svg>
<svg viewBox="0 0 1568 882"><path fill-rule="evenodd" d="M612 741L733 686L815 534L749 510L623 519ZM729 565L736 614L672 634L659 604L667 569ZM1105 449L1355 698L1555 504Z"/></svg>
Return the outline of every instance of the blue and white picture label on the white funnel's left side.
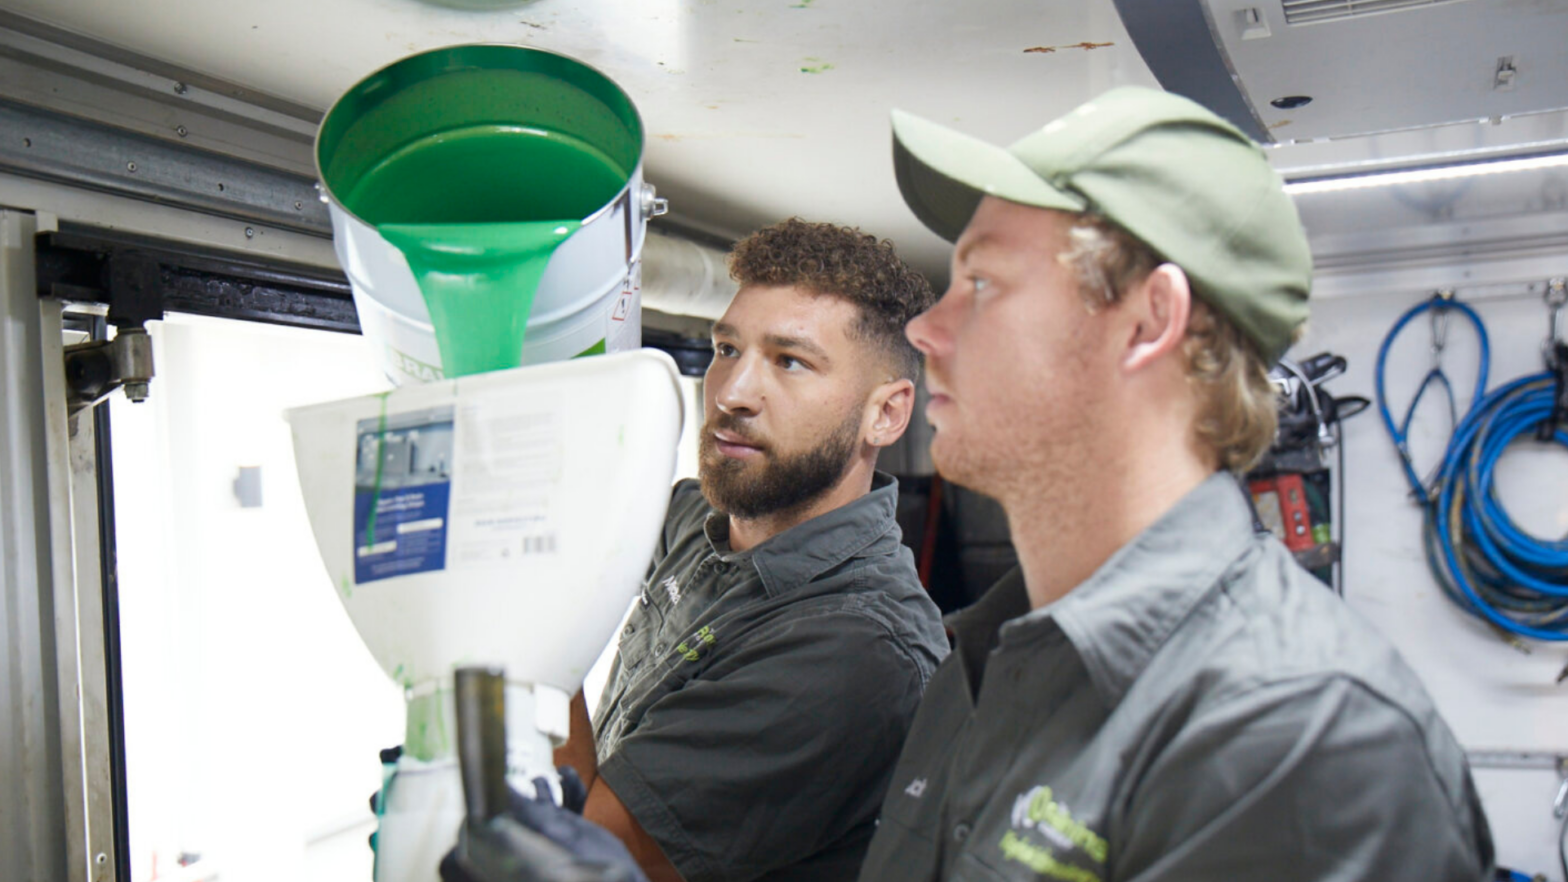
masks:
<svg viewBox="0 0 1568 882"><path fill-rule="evenodd" d="M354 584L447 567L452 405L356 425Z"/></svg>

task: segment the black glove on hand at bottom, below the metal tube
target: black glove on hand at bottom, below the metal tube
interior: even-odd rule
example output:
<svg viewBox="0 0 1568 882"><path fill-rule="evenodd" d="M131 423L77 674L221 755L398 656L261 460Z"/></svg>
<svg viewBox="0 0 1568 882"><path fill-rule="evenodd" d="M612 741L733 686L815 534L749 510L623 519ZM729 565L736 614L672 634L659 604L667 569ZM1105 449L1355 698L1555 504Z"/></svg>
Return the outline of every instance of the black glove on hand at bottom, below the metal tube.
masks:
<svg viewBox="0 0 1568 882"><path fill-rule="evenodd" d="M505 815L464 822L458 847L441 862L444 882L648 882L615 833L585 821L586 789L577 772L561 769L555 805L544 778L532 799L513 791Z"/></svg>

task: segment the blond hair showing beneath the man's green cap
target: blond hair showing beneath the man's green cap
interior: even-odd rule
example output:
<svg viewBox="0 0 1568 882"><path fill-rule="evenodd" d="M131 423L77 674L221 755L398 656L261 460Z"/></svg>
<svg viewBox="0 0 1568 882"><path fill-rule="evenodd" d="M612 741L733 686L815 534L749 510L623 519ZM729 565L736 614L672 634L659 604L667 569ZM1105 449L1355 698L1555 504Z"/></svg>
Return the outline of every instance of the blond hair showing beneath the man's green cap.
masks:
<svg viewBox="0 0 1568 882"><path fill-rule="evenodd" d="M1113 306L1134 284L1165 262L1152 248L1098 215L1079 215L1058 257L1077 276L1090 312ZM1225 315L1203 298L1192 301L1182 342L1187 381L1198 395L1193 436L1220 468L1242 474L1273 444L1279 424L1269 364Z"/></svg>

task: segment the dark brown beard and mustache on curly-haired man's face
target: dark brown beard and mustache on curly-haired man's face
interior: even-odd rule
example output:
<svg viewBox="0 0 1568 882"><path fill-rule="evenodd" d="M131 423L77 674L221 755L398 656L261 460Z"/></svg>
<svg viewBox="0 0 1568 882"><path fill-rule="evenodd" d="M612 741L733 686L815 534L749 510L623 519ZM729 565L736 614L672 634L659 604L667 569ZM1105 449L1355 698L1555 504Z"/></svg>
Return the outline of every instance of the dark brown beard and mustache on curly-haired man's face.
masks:
<svg viewBox="0 0 1568 882"><path fill-rule="evenodd" d="M751 441L745 422L718 414L702 430L698 474L709 505L742 519L801 510L828 493L850 466L859 444L861 416L851 411L831 435L804 454L779 457L762 447L759 461L748 463L718 452L713 430Z"/></svg>

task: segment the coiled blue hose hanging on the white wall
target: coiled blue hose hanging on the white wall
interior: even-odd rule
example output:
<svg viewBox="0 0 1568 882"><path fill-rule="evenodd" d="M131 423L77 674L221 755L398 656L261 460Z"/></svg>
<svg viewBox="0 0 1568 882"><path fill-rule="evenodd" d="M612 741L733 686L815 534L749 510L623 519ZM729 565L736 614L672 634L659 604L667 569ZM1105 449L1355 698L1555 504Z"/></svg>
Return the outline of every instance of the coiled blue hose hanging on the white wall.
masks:
<svg viewBox="0 0 1568 882"><path fill-rule="evenodd" d="M1480 369L1472 403L1454 428L1436 477L1427 487L1410 458L1410 421L1416 403L1433 386L1447 391L1452 408L1452 385L1441 367L1433 367L1403 422L1396 424L1383 381L1394 337L1430 309L1457 311L1474 325L1480 339ZM1493 485L1493 469L1502 454L1521 438L1535 441L1537 427L1551 417L1555 378L1548 372L1534 374L1485 392L1490 358L1486 326L1474 309L1454 300L1419 303L1400 315L1378 348L1378 413L1399 449L1411 494L1425 510L1427 563L1444 593L1510 634L1568 640L1568 540L1543 540L1519 529ZM1568 447L1568 430L1560 427L1552 443Z"/></svg>

